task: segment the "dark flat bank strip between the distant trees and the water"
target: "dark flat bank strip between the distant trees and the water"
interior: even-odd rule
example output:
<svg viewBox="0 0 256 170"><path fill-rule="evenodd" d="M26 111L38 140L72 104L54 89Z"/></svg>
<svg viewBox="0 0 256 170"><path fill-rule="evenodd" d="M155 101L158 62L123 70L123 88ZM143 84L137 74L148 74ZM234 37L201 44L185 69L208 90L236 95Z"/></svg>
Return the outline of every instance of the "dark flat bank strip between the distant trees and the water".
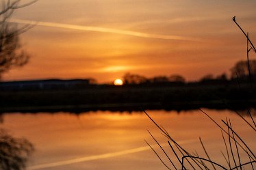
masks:
<svg viewBox="0 0 256 170"><path fill-rule="evenodd" d="M88 85L76 89L0 91L1 112L140 111L255 108L255 84L187 83L163 85Z"/></svg>

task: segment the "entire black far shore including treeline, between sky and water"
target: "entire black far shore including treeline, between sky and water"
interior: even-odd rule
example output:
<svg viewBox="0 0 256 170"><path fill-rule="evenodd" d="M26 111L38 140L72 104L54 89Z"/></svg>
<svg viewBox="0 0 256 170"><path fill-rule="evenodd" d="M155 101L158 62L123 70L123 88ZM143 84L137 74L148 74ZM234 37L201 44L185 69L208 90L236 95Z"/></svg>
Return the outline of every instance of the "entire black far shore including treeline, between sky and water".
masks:
<svg viewBox="0 0 256 170"><path fill-rule="evenodd" d="M44 80L0 83L0 108L5 111L69 111L97 109L199 109L256 107L256 76L240 69L226 74L207 74L200 81L186 82L180 75L146 78L125 74L123 86L98 85L94 79ZM243 64L241 64L243 63ZM255 65L254 65L255 64ZM242 66L241 66L242 65ZM240 69L238 73L238 68ZM196 107L196 108L195 108Z"/></svg>

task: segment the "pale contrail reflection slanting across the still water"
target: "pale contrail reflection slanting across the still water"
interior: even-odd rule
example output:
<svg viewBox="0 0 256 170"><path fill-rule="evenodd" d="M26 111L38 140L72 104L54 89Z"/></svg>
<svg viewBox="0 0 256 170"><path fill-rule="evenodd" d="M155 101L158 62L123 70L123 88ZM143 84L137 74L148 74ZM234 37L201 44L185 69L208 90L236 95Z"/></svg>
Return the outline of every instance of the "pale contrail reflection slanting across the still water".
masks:
<svg viewBox="0 0 256 170"><path fill-rule="evenodd" d="M195 140L190 140L190 141L180 141L179 144L185 144L185 143L192 143ZM168 145L168 143L164 143L161 144L162 146L166 146ZM151 147L158 147L158 145L151 145ZM133 148L131 150L123 150L120 152L112 152L112 153L107 153L107 154L99 154L99 155L94 155L94 156L85 156L82 158L75 158L75 159L71 159L71 160L62 160L59 162L51 162L51 163L46 163L46 164L42 164L42 165L33 165L31 167L27 167L28 170L35 170L35 169L46 169L49 167L58 167L58 166L62 166L62 165L70 165L70 164L75 164L75 163L79 163L79 162L87 162L90 160L100 160L103 158L112 158L115 156L123 156L126 154L133 154L133 153L137 153L137 152L143 152L146 150L151 150L151 148L147 145L147 146L143 146L143 147L136 147Z"/></svg>

